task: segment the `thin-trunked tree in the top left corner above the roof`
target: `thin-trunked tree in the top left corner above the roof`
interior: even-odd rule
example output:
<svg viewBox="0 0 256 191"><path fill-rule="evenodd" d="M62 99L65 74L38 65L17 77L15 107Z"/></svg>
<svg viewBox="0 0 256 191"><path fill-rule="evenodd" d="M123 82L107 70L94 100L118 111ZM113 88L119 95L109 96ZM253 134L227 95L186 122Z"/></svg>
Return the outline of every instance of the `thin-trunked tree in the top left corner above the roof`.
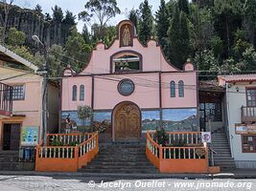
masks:
<svg viewBox="0 0 256 191"><path fill-rule="evenodd" d="M2 14L0 14L0 23L3 26L1 29L1 39L0 41L5 44L6 37L7 37L7 24L9 19L9 12L12 9L12 3L14 0L10 0L9 2L7 0L0 0L0 7L3 7L4 10L4 17Z"/></svg>

